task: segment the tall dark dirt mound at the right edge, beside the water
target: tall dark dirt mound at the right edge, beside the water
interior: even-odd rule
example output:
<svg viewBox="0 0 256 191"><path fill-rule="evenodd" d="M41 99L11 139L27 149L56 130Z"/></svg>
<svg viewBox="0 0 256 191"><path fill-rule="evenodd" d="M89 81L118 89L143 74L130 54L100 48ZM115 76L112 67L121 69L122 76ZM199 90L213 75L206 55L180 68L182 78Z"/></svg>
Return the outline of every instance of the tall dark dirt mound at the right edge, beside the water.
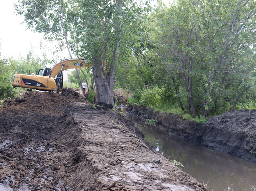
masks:
<svg viewBox="0 0 256 191"><path fill-rule="evenodd" d="M240 109L210 118L202 145L256 162L256 110Z"/></svg>

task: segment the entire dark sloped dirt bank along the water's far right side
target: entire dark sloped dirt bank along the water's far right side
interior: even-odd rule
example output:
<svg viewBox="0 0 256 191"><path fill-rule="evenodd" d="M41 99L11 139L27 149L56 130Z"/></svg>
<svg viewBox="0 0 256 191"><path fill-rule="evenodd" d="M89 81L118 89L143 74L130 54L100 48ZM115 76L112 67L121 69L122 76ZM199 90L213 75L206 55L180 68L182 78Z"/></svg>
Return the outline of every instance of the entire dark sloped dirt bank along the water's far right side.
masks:
<svg viewBox="0 0 256 191"><path fill-rule="evenodd" d="M205 124L182 119L180 115L154 112L143 106L129 106L128 112L157 120L156 127L190 140L256 162L256 110L238 110L209 118Z"/></svg>

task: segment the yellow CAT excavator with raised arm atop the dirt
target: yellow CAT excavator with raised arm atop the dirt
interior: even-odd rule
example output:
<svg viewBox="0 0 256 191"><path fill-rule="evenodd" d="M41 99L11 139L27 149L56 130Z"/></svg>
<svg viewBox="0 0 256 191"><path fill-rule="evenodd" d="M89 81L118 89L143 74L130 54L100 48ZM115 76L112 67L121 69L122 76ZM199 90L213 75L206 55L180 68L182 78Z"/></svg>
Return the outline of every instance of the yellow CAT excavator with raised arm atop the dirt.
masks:
<svg viewBox="0 0 256 191"><path fill-rule="evenodd" d="M85 59L62 60L51 68L40 69L36 74L19 74L13 76L13 86L38 89L43 91L61 91L63 87L63 70L90 67ZM30 73L30 72L29 72Z"/></svg>

